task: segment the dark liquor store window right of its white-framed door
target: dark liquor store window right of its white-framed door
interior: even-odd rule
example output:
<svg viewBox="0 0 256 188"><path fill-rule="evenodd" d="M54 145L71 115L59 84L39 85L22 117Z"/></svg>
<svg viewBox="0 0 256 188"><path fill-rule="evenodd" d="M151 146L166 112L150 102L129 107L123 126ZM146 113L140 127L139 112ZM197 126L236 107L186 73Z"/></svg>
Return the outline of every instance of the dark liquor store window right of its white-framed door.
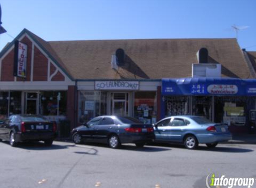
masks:
<svg viewBox="0 0 256 188"><path fill-rule="evenodd" d="M66 115L67 112L67 91L41 91L41 103L39 114L42 115ZM58 108L59 95L59 108ZM59 111L58 111L59 110Z"/></svg>

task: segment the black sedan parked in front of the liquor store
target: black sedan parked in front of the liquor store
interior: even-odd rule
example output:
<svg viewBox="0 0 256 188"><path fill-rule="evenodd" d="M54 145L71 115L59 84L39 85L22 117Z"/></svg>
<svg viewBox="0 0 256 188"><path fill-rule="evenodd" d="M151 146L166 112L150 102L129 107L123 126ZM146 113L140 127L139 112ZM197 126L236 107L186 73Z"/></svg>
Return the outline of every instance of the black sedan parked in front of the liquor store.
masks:
<svg viewBox="0 0 256 188"><path fill-rule="evenodd" d="M15 114L0 122L0 139L9 140L11 146L41 140L50 146L56 136L56 124L40 115Z"/></svg>

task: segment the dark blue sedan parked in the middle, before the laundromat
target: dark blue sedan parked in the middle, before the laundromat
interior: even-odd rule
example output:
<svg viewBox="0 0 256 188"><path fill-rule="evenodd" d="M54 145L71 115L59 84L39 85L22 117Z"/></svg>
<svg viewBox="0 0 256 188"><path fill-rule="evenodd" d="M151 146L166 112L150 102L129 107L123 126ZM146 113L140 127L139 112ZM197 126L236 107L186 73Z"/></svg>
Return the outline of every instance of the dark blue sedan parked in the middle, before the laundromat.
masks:
<svg viewBox="0 0 256 188"><path fill-rule="evenodd" d="M151 124L143 124L138 119L122 116L99 116L71 132L74 143L108 143L118 148L122 143L135 143L143 147L155 139Z"/></svg>

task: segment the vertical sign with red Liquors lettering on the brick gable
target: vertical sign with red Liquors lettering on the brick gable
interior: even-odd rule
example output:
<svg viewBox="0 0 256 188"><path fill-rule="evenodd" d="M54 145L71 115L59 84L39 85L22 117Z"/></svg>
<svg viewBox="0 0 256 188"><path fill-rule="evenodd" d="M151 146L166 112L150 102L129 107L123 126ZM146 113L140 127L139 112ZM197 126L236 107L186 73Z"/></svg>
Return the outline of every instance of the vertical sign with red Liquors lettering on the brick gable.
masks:
<svg viewBox="0 0 256 188"><path fill-rule="evenodd" d="M28 46L15 41L13 76L26 78Z"/></svg>

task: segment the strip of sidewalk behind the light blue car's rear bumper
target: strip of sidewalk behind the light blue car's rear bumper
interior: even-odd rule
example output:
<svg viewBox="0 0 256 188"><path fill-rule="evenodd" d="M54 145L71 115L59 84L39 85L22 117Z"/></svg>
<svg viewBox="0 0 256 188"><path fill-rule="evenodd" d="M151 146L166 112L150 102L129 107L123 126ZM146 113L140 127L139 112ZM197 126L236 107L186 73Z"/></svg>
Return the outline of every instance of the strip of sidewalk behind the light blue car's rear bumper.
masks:
<svg viewBox="0 0 256 188"><path fill-rule="evenodd" d="M232 140L227 143L256 144L256 134L233 133Z"/></svg>

